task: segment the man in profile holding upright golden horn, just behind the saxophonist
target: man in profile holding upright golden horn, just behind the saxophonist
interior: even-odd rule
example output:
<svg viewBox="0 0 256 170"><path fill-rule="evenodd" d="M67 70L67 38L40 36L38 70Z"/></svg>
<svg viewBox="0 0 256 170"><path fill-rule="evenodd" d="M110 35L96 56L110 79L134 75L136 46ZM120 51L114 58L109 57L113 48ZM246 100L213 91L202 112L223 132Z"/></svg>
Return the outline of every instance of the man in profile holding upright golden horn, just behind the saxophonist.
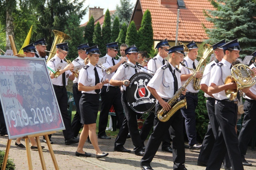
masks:
<svg viewBox="0 0 256 170"><path fill-rule="evenodd" d="M187 48L189 50L187 56L184 58L184 64L188 68L194 68L196 69L196 66L198 64L198 61L196 60L198 55L198 47L197 44L194 41L191 41L187 44ZM180 65L181 70L181 83L183 84L191 75L191 71L187 69L186 67ZM199 71L196 74L196 78L201 78L202 73ZM197 134L196 134L196 107L198 104L198 91L193 89L193 81L191 81L187 86L187 92L186 92L186 99L187 99L187 105L189 106L186 108L181 108L181 112L183 117L185 118L185 127L188 137L188 144L189 144L189 150L196 150L201 148L201 144L197 143ZM184 99L185 96L181 96L181 99Z"/></svg>

